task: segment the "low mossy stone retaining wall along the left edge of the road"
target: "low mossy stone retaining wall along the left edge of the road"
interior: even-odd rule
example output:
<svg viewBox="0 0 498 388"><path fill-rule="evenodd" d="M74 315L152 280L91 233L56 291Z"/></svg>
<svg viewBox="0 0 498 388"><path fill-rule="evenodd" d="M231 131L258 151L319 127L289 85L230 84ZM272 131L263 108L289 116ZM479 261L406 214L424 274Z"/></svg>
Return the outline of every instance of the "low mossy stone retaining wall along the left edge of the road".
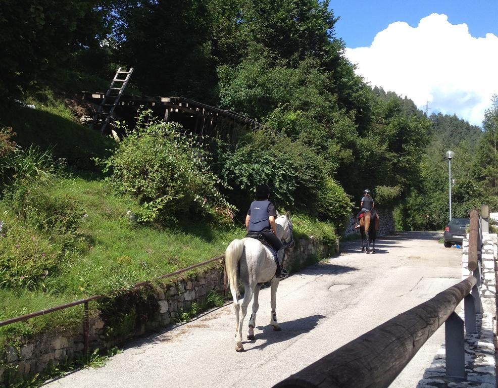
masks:
<svg viewBox="0 0 498 388"><path fill-rule="evenodd" d="M313 236L309 239L300 239L296 241L292 249L288 250L284 268L301 268L314 255L327 257L337 251L337 245L329 247L319 244ZM211 290L223 294L223 280L223 266L220 260L215 268L208 269L201 274L182 278L172 285L151 288L153 294L147 297L146 307L139 306L138 304L141 302L137 302L136 311L141 311L141 313L137 313L135 318L132 316L132 327L120 336L110 335L112 331L116 331L116 327L106 322L105 318L103 319L104 314L91 317L89 352L97 348L100 350L110 349L129 338L174 323L180 312L188 310L192 303L202 304ZM130 295L120 298L127 298ZM228 291L227 295L229 295ZM116 304L123 301L120 298L116 300ZM82 305L71 308L81 309L83 315ZM19 347L10 347L3 355L0 354L0 385L6 384L9 380L12 382L21 377L31 376L36 372L43 372L51 364L57 365L64 363L67 359L81 356L83 344L83 329L80 327L64 333L44 332L30 338Z"/></svg>

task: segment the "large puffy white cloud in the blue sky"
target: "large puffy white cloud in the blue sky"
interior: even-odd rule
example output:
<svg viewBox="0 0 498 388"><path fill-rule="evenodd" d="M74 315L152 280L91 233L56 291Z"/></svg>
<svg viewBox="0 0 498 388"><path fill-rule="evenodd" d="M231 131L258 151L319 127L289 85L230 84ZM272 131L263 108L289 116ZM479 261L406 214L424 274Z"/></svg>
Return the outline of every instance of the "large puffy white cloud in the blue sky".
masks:
<svg viewBox="0 0 498 388"><path fill-rule="evenodd" d="M346 49L357 74L386 91L407 96L429 114L441 112L481 125L498 94L498 37L474 38L466 24L431 14L417 27L395 22L370 47Z"/></svg>

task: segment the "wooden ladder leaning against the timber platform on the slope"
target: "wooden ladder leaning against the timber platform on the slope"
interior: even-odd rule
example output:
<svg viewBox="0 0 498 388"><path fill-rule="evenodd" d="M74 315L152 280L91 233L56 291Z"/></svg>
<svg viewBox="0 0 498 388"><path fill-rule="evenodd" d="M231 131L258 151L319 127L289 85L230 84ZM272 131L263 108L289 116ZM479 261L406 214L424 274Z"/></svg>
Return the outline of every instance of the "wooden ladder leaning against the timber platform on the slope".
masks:
<svg viewBox="0 0 498 388"><path fill-rule="evenodd" d="M116 71L116 75L111 81L111 85L104 95L101 104L98 106L95 116L93 116L93 121L90 128L95 128L96 126L101 126L101 132L105 133L105 129L111 116L118 105L119 98L123 94L123 90L130 79L131 73L133 73L133 68L131 67L129 71L124 71L119 68ZM124 78L123 78L124 77Z"/></svg>

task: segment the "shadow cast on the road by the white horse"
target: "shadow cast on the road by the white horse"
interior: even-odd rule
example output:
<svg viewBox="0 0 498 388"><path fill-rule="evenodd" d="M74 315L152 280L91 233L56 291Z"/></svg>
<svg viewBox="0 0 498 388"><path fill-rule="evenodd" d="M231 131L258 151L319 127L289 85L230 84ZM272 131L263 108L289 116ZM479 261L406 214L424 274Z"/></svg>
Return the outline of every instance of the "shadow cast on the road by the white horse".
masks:
<svg viewBox="0 0 498 388"><path fill-rule="evenodd" d="M274 331L272 326L257 326L261 332L255 332L256 340L244 341L242 344L257 344L261 341L264 343L253 348L246 347L246 351L263 350L267 346L277 344L279 342L290 340L298 335L307 333L313 330L320 319L326 318L324 315L312 315L311 317L299 318L293 321L280 323L281 331Z"/></svg>

